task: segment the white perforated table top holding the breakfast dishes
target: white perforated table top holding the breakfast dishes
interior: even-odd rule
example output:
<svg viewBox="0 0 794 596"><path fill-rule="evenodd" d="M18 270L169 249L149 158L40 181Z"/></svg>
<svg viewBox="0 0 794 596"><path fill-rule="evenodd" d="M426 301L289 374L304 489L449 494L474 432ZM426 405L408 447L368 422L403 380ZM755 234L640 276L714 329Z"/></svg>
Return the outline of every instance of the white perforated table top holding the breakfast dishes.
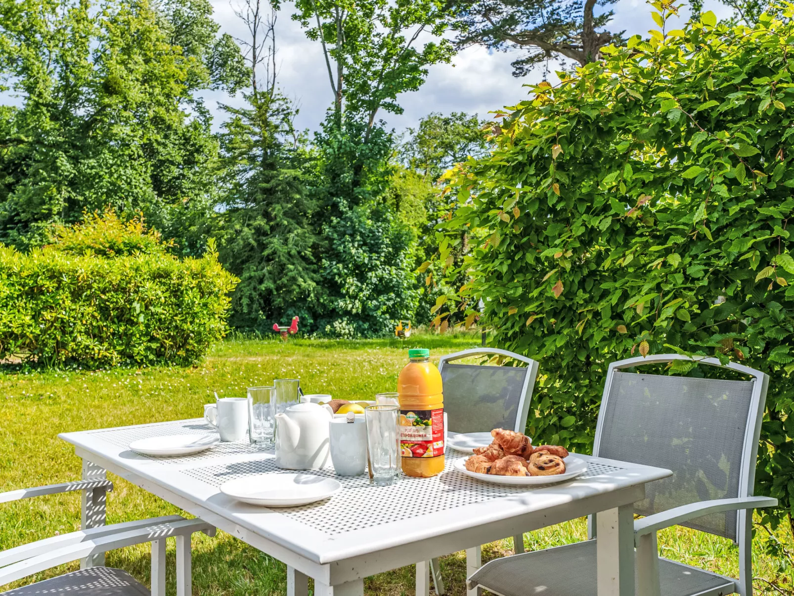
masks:
<svg viewBox="0 0 794 596"><path fill-rule="evenodd" d="M582 455L588 470L573 481L533 487L501 486L454 470L452 464L462 454L448 450L444 472L434 478L403 477L394 486L371 486L366 475L337 477L333 467L306 471L336 478L343 490L312 505L265 509L233 501L219 487L224 482L257 474L295 473L279 470L270 450L252 446L247 440L220 443L209 451L173 458L147 457L128 449L129 443L138 439L196 432L214 430L203 419L196 419L67 433L61 437L77 447L78 455L243 540L252 540L253 533L318 563L434 540L467 528L488 529L488 524L495 524L496 532L513 517L534 513L545 517L555 507L564 507L571 511L570 517L578 517L592 511L577 511L577 501L642 486L668 475L667 470ZM225 525L226 521L230 525ZM461 544L461 548L468 546L471 545Z"/></svg>

